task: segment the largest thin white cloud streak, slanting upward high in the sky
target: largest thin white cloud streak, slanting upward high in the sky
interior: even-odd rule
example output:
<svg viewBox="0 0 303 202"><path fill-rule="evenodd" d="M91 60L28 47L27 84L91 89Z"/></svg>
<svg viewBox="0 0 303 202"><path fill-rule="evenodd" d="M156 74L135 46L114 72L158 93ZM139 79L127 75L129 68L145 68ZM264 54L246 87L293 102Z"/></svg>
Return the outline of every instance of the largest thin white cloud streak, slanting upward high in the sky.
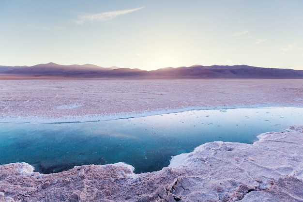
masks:
<svg viewBox="0 0 303 202"><path fill-rule="evenodd" d="M139 8L134 8L134 9L128 9L128 10L122 10L122 11L110 11L110 12L105 12L105 13L99 13L99 14L91 14L91 15L84 15L84 16L79 16L78 20L75 22L77 24L83 24L86 21L106 21L113 19L118 16L122 16L128 13L133 13L137 10L140 10L144 7L139 7Z"/></svg>

